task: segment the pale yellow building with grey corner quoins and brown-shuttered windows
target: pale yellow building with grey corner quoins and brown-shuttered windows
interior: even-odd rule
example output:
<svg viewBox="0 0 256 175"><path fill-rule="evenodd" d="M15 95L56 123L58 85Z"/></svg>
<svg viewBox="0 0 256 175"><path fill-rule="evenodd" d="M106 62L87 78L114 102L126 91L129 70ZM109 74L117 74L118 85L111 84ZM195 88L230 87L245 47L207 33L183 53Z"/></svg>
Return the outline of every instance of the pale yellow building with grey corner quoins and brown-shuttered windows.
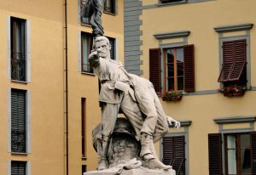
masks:
<svg viewBox="0 0 256 175"><path fill-rule="evenodd" d="M255 174L255 2L127 0L125 68L148 78L167 116L160 144L178 174Z"/></svg>

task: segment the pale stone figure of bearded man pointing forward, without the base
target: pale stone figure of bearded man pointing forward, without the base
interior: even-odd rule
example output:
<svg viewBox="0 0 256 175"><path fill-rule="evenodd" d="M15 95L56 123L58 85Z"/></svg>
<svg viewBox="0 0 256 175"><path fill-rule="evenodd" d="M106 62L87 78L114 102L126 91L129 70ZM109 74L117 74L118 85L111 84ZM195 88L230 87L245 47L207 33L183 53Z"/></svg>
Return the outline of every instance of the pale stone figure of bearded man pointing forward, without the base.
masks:
<svg viewBox="0 0 256 175"><path fill-rule="evenodd" d="M94 51L89 56L90 66L99 77L102 88L99 101L102 106L102 125L96 136L98 170L108 168L109 137L113 133L119 109L131 122L136 138L141 144L140 158L149 169L170 169L159 161L154 142L168 131L168 123L180 127L180 123L166 116L151 82L129 74L123 65L110 59L107 37L96 37Z"/></svg>

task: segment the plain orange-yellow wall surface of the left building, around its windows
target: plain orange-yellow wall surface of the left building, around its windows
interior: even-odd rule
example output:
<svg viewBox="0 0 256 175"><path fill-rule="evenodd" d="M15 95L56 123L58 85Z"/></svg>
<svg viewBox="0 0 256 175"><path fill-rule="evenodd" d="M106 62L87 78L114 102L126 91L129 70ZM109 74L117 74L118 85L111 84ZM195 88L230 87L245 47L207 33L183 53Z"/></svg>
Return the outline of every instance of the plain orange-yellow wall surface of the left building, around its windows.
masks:
<svg viewBox="0 0 256 175"><path fill-rule="evenodd" d="M62 175L65 161L65 42L64 1L0 1L0 174L7 173L8 161L30 161L32 174ZM79 1L67 0L68 37L68 139L69 174L81 174L97 166L96 151L92 147L91 130L101 120L98 104L98 79L79 72L79 31L91 32L79 23ZM117 39L117 58L124 61L123 1L118 2L118 14L102 14L107 37ZM31 83L11 82L7 75L7 16L30 21L31 26ZM31 92L32 153L8 153L8 89L20 88ZM81 98L86 98L86 153L82 160Z"/></svg>

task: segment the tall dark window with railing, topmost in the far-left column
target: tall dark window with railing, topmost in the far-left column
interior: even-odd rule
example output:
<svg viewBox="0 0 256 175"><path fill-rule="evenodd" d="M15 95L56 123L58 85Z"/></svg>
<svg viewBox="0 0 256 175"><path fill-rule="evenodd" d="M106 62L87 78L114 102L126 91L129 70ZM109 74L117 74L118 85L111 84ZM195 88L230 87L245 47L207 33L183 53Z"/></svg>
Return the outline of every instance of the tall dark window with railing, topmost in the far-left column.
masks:
<svg viewBox="0 0 256 175"><path fill-rule="evenodd" d="M26 20L10 19L11 79L26 82Z"/></svg>

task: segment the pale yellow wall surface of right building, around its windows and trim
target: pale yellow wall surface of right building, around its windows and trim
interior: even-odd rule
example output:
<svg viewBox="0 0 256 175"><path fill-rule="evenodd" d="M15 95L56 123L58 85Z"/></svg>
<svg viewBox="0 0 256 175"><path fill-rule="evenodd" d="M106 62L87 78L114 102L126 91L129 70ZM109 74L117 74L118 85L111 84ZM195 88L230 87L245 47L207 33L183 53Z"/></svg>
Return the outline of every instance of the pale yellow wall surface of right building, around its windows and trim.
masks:
<svg viewBox="0 0 256 175"><path fill-rule="evenodd" d="M156 0L143 0L143 6L156 4ZM154 34L190 31L188 43L195 45L195 91L216 90L213 94L184 95L179 102L162 102L166 114L189 126L189 175L208 174L208 133L218 133L213 119L227 116L255 116L255 91L247 91L242 97L227 98L218 92L219 58L218 32L214 27L222 25L256 24L256 2L251 0L218 0L203 3L183 3L159 8L143 9L143 76L149 77L149 48L158 48ZM153 6L151 6L153 7ZM153 22L154 21L154 22ZM244 34L244 31L225 33L227 36ZM172 42L163 41L164 43ZM256 86L256 31L250 30L251 84ZM227 128L241 128L243 124Z"/></svg>

